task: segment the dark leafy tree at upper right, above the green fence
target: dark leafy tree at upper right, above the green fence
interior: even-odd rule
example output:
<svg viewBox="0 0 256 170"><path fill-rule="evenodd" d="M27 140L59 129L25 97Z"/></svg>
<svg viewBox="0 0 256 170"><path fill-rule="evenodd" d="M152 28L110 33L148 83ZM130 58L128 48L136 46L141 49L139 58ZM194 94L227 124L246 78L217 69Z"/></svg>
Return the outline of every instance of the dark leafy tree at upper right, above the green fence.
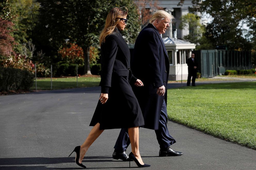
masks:
<svg viewBox="0 0 256 170"><path fill-rule="evenodd" d="M184 0L181 0L180 5ZM213 20L207 25L205 36L217 45L226 45L229 49L248 50L252 48L252 36L244 36L248 31L244 23L250 23L249 30L256 30L256 2L254 0L192 0L190 12L199 11L209 14Z"/></svg>

